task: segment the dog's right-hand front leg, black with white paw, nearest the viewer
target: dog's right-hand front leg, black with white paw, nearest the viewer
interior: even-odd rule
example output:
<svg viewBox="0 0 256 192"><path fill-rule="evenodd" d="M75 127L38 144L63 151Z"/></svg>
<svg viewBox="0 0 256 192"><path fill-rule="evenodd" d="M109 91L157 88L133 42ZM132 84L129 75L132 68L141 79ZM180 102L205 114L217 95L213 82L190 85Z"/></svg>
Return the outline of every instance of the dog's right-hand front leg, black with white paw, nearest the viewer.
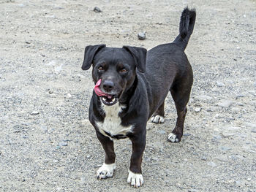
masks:
<svg viewBox="0 0 256 192"><path fill-rule="evenodd" d="M143 133L140 134L136 134L130 139L132 140L132 157L129 166L129 175L127 182L130 185L133 185L135 188L138 188L143 185L141 162L146 145L146 131L143 131Z"/></svg>

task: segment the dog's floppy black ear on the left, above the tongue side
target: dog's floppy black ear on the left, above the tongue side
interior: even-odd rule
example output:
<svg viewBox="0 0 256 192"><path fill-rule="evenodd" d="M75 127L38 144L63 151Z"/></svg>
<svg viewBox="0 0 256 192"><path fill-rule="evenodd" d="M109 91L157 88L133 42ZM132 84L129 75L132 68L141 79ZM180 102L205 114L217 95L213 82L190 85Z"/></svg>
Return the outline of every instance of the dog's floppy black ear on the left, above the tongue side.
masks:
<svg viewBox="0 0 256 192"><path fill-rule="evenodd" d="M88 70L91 67L92 61L94 60L94 55L103 47L106 47L106 45L89 45L86 47L82 65L83 70Z"/></svg>

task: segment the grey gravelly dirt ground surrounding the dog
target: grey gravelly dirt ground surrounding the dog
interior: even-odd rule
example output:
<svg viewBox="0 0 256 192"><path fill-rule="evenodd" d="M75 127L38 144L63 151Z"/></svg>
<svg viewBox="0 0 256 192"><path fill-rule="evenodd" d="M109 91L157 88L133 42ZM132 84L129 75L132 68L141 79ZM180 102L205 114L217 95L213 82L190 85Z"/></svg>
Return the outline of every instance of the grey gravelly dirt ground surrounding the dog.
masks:
<svg viewBox="0 0 256 192"><path fill-rule="evenodd" d="M165 123L148 123L143 187L127 184L128 139L115 142L114 177L97 180L104 152L88 120L84 48L171 42L187 5L195 81L182 141L167 142L168 96ZM0 191L256 191L255 20L249 0L0 0Z"/></svg>

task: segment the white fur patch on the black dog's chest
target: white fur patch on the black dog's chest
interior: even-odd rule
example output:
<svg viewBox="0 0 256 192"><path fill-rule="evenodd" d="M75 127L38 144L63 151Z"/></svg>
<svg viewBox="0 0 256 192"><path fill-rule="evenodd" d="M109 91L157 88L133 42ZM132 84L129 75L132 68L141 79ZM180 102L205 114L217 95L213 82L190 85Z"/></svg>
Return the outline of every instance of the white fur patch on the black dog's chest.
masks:
<svg viewBox="0 0 256 192"><path fill-rule="evenodd" d="M102 122L97 122L97 127L101 134L106 137L116 135L126 135L127 132L132 132L133 126L121 126L121 118L118 116L124 106L119 106L118 103L112 106L102 104L102 110L105 112L105 119ZM108 134L106 134L106 132ZM112 137L110 137L112 139Z"/></svg>

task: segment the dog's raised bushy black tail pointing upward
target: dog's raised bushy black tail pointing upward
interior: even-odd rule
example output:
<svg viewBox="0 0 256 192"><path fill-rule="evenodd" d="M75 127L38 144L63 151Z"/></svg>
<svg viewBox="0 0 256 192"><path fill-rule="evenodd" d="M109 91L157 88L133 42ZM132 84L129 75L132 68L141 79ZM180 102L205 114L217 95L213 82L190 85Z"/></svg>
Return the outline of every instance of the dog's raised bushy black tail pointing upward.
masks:
<svg viewBox="0 0 256 192"><path fill-rule="evenodd" d="M189 42L189 37L191 36L194 25L195 25L195 9L189 9L186 7L181 13L181 21L179 23L179 34L173 43L184 48L187 47L187 43Z"/></svg>

